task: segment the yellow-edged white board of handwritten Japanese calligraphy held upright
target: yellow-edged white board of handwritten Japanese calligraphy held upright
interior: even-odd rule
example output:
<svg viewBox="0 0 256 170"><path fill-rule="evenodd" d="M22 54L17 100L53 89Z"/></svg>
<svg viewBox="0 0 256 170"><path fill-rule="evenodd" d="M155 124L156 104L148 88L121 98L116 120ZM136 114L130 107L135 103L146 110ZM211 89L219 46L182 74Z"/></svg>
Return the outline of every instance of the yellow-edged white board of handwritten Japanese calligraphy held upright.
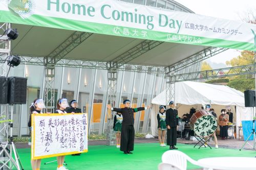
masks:
<svg viewBox="0 0 256 170"><path fill-rule="evenodd" d="M87 114L32 114L31 158L88 152Z"/></svg>

